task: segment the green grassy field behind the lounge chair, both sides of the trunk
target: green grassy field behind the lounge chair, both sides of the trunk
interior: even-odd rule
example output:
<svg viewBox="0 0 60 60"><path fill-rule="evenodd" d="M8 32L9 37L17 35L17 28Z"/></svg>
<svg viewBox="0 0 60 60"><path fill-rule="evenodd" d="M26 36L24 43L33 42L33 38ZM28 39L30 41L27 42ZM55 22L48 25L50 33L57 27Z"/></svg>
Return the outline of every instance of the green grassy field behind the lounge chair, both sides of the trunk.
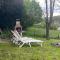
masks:
<svg viewBox="0 0 60 60"><path fill-rule="evenodd" d="M36 38L37 37L46 38L46 30L45 30L45 28L39 28L34 25L33 27L29 27L26 30L26 32L23 33L23 35L29 36L29 37L36 37ZM58 39L58 38L60 38L60 32L55 29L51 29L51 30L49 30L49 37Z"/></svg>

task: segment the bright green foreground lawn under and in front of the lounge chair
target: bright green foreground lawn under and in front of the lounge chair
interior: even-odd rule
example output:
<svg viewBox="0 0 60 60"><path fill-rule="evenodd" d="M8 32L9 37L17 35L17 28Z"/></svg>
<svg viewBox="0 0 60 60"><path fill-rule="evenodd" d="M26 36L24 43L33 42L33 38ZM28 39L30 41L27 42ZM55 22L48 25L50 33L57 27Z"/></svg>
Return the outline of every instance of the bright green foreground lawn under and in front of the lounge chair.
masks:
<svg viewBox="0 0 60 60"><path fill-rule="evenodd" d="M60 60L60 47L52 46L51 43L60 40L45 40L43 47L28 45L19 48L11 43L0 43L0 60Z"/></svg>

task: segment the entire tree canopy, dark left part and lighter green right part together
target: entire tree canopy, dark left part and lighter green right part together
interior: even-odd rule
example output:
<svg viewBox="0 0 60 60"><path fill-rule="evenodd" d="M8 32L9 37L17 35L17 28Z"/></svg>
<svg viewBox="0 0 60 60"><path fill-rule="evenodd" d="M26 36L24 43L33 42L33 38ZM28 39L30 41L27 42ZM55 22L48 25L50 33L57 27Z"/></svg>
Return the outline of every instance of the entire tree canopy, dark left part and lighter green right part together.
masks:
<svg viewBox="0 0 60 60"><path fill-rule="evenodd" d="M0 27L12 28L20 19L23 28L42 20L42 9L35 0L0 0Z"/></svg>

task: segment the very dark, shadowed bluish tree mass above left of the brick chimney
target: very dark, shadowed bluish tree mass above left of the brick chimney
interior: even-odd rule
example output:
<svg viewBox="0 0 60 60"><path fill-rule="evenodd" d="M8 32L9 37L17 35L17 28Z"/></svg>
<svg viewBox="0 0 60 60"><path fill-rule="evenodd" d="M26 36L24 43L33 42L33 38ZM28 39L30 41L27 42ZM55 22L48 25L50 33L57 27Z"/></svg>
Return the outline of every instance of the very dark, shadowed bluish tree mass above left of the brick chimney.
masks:
<svg viewBox="0 0 60 60"><path fill-rule="evenodd" d="M12 28L22 18L22 0L0 0L0 27Z"/></svg>

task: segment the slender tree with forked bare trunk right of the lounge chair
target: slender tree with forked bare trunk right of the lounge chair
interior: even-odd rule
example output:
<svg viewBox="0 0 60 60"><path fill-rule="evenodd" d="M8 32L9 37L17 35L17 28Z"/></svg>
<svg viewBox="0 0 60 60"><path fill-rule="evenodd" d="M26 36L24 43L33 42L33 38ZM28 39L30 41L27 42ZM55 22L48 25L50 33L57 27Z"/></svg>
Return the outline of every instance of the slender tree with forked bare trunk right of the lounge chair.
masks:
<svg viewBox="0 0 60 60"><path fill-rule="evenodd" d="M54 4L55 0L50 0L50 20L48 18L48 0L45 0L46 3L46 38L49 39L49 29L53 19Z"/></svg>

